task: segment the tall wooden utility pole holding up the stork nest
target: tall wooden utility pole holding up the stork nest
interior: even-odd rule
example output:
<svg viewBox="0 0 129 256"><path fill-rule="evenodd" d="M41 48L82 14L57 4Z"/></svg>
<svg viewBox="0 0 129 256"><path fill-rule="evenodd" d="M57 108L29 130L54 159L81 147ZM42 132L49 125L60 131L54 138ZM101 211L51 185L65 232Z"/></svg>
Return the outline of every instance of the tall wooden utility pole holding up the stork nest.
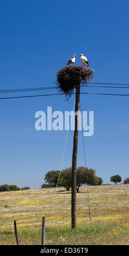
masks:
<svg viewBox="0 0 129 256"><path fill-rule="evenodd" d="M79 111L80 86L76 88L75 113ZM72 186L71 186L71 227L76 229L76 176L77 176L77 145L78 145L79 112L75 115L75 131L72 152Z"/></svg>

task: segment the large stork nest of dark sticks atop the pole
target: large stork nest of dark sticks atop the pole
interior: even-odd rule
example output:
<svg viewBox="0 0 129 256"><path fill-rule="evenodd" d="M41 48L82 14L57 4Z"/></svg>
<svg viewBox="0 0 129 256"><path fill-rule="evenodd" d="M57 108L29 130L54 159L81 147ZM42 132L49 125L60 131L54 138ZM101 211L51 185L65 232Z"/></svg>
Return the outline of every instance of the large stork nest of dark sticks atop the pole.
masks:
<svg viewBox="0 0 129 256"><path fill-rule="evenodd" d="M85 66L65 66L57 72L56 84L59 92L64 93L69 99L77 86L86 85L93 76L93 70Z"/></svg>

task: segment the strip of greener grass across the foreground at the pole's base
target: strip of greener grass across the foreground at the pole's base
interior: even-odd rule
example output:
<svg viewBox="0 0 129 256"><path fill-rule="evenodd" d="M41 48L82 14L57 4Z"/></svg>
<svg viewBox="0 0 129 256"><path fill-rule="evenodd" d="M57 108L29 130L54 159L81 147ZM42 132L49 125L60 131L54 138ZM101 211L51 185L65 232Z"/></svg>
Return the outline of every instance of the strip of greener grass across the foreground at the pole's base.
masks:
<svg viewBox="0 0 129 256"><path fill-rule="evenodd" d="M129 230L121 229L120 225L113 223L89 223L78 225L77 229L71 227L51 228L46 233L45 245L119 245L121 235L128 239ZM121 231L120 231L121 230ZM4 242L10 241L15 245L15 235L3 233ZM41 245L41 229L36 231L18 232L20 245Z"/></svg>

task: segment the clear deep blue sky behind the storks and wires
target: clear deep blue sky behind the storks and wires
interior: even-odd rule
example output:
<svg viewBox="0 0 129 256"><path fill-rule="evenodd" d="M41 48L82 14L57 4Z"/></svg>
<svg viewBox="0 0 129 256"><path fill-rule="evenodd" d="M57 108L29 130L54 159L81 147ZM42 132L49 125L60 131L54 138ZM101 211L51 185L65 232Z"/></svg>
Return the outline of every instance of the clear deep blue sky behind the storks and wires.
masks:
<svg viewBox="0 0 129 256"><path fill-rule="evenodd" d="M76 54L88 57L93 82L129 83L128 1L16 1L0 3L0 88L50 87L56 72ZM82 92L129 94L128 89L83 88ZM56 93L52 89L45 93ZM42 94L44 92L38 92ZM36 92L17 93L34 95ZM6 94L1 96L16 96ZM84 111L94 111L94 136L85 137L87 167L103 183L129 176L128 100L124 96L81 95ZM60 169L66 131L36 131L35 112L70 111L74 96L0 100L0 172L2 184L38 188L45 173ZM72 161L73 132L63 168ZM84 166L79 132L77 166Z"/></svg>

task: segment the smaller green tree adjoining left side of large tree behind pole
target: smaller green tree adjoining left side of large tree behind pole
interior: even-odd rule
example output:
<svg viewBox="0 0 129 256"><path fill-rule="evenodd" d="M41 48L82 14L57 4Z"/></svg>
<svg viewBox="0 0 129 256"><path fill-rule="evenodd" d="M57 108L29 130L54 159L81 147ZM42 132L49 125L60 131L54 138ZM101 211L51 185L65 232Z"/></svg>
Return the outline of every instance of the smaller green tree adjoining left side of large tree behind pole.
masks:
<svg viewBox="0 0 129 256"><path fill-rule="evenodd" d="M59 178L59 173L60 173L59 170L50 170L50 172L46 173L46 175L45 175L45 182L46 183L53 183L54 187L56 187L57 181L58 181L58 178Z"/></svg>

